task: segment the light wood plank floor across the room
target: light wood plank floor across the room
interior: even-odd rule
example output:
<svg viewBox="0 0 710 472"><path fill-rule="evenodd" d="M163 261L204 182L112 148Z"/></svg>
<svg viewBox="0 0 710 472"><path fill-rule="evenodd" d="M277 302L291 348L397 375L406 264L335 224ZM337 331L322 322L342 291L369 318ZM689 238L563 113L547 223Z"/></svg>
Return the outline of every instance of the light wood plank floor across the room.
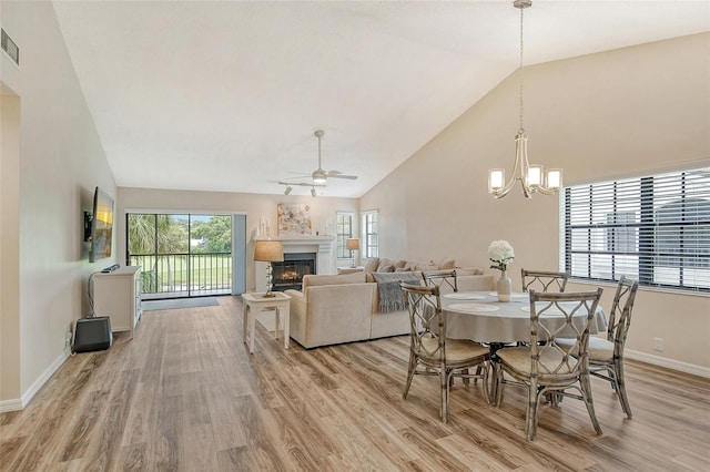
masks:
<svg viewBox="0 0 710 472"><path fill-rule="evenodd" d="M144 312L132 341L73 356L23 411L0 415L0 469L710 470L708 379L629 361L633 419L592 379L604 435L566 399L526 442L519 389L496 409L456 383L448 424L435 378L416 377L403 400L406 336L285 351L258 327L248 355L241 328L239 297Z"/></svg>

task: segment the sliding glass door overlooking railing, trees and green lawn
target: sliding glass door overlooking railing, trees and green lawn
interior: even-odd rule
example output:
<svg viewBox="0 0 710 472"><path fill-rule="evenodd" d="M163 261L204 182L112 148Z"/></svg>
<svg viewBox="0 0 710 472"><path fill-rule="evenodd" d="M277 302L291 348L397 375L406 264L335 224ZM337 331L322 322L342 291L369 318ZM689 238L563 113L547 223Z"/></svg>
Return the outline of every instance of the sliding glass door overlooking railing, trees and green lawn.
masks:
<svg viewBox="0 0 710 472"><path fill-rule="evenodd" d="M129 258L144 294L229 294L230 216L129 214Z"/></svg>

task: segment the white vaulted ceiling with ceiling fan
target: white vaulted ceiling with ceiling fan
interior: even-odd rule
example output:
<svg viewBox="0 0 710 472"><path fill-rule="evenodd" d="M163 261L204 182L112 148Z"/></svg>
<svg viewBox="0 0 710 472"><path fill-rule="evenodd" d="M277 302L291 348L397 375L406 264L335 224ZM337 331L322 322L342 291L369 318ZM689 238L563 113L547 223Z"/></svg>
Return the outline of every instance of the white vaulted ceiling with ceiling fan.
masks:
<svg viewBox="0 0 710 472"><path fill-rule="evenodd" d="M323 167L359 176L324 194L357 197L519 60L508 0L53 3L119 186L278 194L321 129ZM525 63L708 30L704 0L535 0Z"/></svg>

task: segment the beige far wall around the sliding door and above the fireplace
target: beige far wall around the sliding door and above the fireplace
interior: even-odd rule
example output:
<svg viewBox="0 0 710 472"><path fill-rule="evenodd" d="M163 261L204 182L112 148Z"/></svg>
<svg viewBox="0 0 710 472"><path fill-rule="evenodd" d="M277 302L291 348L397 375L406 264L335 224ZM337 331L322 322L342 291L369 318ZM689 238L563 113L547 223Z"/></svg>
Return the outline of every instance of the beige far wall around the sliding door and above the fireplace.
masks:
<svg viewBox="0 0 710 472"><path fill-rule="evenodd" d="M358 206L355 198L324 198L303 195L263 195L225 192L190 192L150 188L119 188L118 212L115 216L119 243L116 257L125 264L125 211L144 209L176 212L229 212L246 215L246 289L255 290L254 283L254 242L260 219L268 220L272 237L277 237L276 205L280 203L303 203L311 206L313 230L325 234L326 223L335 227L337 212L354 212ZM354 228L357 230L357 227Z"/></svg>

